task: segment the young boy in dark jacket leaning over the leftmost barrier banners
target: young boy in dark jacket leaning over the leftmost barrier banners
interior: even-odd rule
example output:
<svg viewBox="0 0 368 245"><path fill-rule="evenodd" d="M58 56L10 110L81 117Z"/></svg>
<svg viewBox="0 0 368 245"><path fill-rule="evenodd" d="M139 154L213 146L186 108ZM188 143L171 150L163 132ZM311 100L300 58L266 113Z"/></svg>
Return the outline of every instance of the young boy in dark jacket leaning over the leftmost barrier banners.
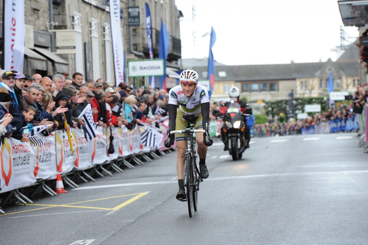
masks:
<svg viewBox="0 0 368 245"><path fill-rule="evenodd" d="M28 126L28 131L32 130L33 125L28 123L33 120L35 114L36 109L33 106L26 106L23 111L14 113L11 125L15 128L15 131L11 137L22 142L29 142L29 138L26 134L23 134L23 129Z"/></svg>

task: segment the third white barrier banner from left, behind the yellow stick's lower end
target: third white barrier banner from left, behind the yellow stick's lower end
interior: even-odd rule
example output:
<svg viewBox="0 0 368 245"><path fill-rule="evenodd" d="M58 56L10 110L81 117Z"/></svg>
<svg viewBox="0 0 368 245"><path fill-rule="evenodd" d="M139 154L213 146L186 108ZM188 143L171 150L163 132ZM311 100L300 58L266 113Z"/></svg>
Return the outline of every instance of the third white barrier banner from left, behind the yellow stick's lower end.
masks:
<svg viewBox="0 0 368 245"><path fill-rule="evenodd" d="M76 158L77 144L71 135L73 146L70 146L67 132L64 130L55 131L56 142L56 166L58 174L69 173L74 168ZM73 147L73 152L71 152Z"/></svg>

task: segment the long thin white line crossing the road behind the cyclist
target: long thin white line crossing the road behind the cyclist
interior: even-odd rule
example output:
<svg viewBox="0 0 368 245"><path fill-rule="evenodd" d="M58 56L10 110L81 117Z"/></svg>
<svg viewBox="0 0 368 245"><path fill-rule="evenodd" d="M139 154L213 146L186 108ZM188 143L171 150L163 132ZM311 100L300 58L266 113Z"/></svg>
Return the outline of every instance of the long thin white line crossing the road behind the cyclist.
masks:
<svg viewBox="0 0 368 245"><path fill-rule="evenodd" d="M266 178L266 177L282 177L282 176L298 176L298 175L314 175L314 174L360 174L360 173L368 173L368 170L322 171L322 172L299 172L299 173L241 175L241 176L228 176L228 177L209 178L209 179L206 179L206 181L236 180L236 179L248 179L248 178ZM78 187L78 188L72 189L72 191L86 190L86 189L109 188L109 187L123 187L123 186L137 186L137 185L159 185L159 184L173 184L173 183L177 183L177 181L140 182L140 183L127 183L127 184L115 184L115 185L95 185L95 186L89 186L89 187ZM77 213L77 212L74 212L74 213Z"/></svg>

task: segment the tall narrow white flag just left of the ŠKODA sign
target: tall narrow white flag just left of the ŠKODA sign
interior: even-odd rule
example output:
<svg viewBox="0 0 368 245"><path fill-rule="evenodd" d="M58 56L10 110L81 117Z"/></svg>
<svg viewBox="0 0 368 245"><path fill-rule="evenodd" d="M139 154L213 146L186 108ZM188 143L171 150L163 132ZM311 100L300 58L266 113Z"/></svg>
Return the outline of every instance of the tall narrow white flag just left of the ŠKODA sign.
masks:
<svg viewBox="0 0 368 245"><path fill-rule="evenodd" d="M111 37L114 54L115 84L124 82L124 49L120 25L120 0L110 0Z"/></svg>

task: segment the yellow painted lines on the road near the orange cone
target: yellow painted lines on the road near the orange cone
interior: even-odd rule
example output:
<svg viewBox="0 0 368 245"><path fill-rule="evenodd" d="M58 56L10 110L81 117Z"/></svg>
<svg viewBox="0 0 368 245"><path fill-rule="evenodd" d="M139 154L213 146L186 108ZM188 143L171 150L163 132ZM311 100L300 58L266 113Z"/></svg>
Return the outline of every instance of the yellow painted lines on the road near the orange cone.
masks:
<svg viewBox="0 0 368 245"><path fill-rule="evenodd" d="M53 204L27 204L26 206L45 206L45 207L40 207L38 209L31 209L31 210L24 210L24 211L19 211L19 212L13 212L13 213L6 213L6 214L2 214L2 215L9 215L9 214L16 214L16 213L24 213L24 212L29 212L29 211L35 211L35 210L40 210L40 209L48 209L50 207L77 207L77 208L84 208L84 209L100 209L100 210L118 210L121 209L124 206L127 206L128 204L134 202L135 200L141 198L142 196L148 194L149 192L141 192L141 193L134 193L134 194L128 194L128 195L121 195L121 196L112 196L112 197L108 197L108 198L99 198L99 199L93 199L93 200L87 200L87 201L82 201L82 202L73 202L73 203L67 203L67 204L62 204L62 205L53 205ZM121 203L120 205L113 207L113 208L106 208L106 207L88 207L88 206L75 206L75 205L71 205L71 204L78 204L78 203L84 203L84 202L93 202L93 201L99 201L99 200L106 200L106 199L112 199L112 198L119 198L119 197L124 197L124 196L134 196L133 198L127 200L124 203ZM19 204L19 205L23 205L23 204ZM0 216L2 216L0 215Z"/></svg>

